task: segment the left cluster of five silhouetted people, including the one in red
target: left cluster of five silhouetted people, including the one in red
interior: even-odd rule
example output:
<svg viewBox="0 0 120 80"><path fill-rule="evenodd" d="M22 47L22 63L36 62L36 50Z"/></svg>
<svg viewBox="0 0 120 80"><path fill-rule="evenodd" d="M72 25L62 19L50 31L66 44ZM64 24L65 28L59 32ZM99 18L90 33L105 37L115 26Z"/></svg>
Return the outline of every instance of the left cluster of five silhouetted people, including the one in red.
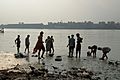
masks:
<svg viewBox="0 0 120 80"><path fill-rule="evenodd" d="M54 42L54 39L53 39L53 36L48 36L47 39L45 40L45 43L46 43L46 49L44 47L44 41L43 41L43 34L44 32L41 31L40 32L40 35L38 36L38 40L37 40L37 43L33 49L33 54L36 53L38 51L38 59L41 59L41 58L44 58L44 53L45 53L45 50L46 50L46 53L49 52L49 54L54 54L54 46L53 46L53 42ZM26 50L28 50L28 53L30 52L29 51L29 45L30 45L30 41L29 41L29 37L30 35L27 35L27 37L25 38L25 51L24 53L26 53ZM15 39L15 44L17 46L17 53L20 53L19 49L20 49L20 43L21 43L21 40L20 40L20 35L18 35L18 37ZM42 54L40 56L40 52L42 50ZM51 52L52 50L52 52Z"/></svg>

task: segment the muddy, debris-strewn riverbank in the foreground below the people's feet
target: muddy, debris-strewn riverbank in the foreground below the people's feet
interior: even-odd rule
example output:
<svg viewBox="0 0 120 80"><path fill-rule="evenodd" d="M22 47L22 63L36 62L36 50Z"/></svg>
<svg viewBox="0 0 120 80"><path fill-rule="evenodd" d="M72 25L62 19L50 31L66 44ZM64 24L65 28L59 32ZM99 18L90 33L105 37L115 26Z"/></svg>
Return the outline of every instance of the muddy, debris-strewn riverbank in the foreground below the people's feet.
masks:
<svg viewBox="0 0 120 80"><path fill-rule="evenodd" d="M3 80L120 80L120 64L114 60L82 57L68 58L61 55L62 61L45 56L38 60L29 54L16 59L14 53L0 54L0 79ZM32 70L31 67L35 69ZM12 76L12 77L11 77ZM8 78L8 79L7 79Z"/></svg>

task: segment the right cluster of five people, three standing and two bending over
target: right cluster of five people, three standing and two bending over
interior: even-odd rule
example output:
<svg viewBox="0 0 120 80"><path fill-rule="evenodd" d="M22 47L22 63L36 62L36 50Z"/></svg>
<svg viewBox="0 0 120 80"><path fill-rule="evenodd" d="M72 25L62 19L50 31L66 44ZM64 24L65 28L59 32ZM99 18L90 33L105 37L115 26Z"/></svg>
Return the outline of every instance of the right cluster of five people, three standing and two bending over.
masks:
<svg viewBox="0 0 120 80"><path fill-rule="evenodd" d="M77 37L77 42L76 42L76 58L79 54L79 58L81 55L81 43L83 38L80 37L80 34L77 33L76 34ZM73 57L73 53L74 53L74 48L75 48L75 38L74 35L72 34L71 37L68 36L68 45L67 47L69 47L69 54L68 57ZM101 50L103 55L100 58L100 60L104 60L105 58L108 59L107 53L109 53L111 51L111 49L109 47L98 47L97 45L93 45L93 46L88 46L88 49L90 49L90 51L87 52L87 56L93 56L93 58L96 57L96 52L97 50Z"/></svg>

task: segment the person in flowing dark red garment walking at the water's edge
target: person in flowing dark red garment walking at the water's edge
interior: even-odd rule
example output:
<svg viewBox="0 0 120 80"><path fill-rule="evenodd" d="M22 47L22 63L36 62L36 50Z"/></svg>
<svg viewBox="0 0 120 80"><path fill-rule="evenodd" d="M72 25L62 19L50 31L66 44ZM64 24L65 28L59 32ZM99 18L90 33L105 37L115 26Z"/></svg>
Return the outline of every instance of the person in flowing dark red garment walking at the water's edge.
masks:
<svg viewBox="0 0 120 80"><path fill-rule="evenodd" d="M45 52L45 47L43 45L43 43L44 43L43 42L43 34L44 34L44 32L41 31L40 35L38 36L38 41L36 43L36 46L35 46L35 48L33 50L33 53L36 53L37 50L39 50L39 52L38 52L38 59L41 59L41 58L44 59L43 55L44 55L44 52ZM42 49L42 55L41 55L41 58L40 58L40 51L41 51L41 49Z"/></svg>

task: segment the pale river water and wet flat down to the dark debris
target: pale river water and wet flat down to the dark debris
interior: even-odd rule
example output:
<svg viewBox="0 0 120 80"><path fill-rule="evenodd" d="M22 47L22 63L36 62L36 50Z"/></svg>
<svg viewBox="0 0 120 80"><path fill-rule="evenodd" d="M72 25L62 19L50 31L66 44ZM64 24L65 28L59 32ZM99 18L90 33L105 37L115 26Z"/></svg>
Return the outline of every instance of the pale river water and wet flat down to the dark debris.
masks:
<svg viewBox="0 0 120 80"><path fill-rule="evenodd" d="M40 31L44 31L43 40L47 36L54 37L55 55L49 57L44 55L45 59L38 60L37 57L32 57L32 50L37 42L37 37ZM68 58L68 36L80 33L83 38L81 58ZM30 54L23 59L14 58L16 51L15 39L17 35L21 36L20 52L25 49L25 37L30 35ZM44 43L45 45L45 43ZM101 61L101 51L97 51L97 58L86 57L88 46L97 45L98 47L110 47L111 51L108 53L109 59ZM36 54L37 55L37 54ZM56 56L62 56L62 61L55 61ZM75 52L74 52L75 56ZM120 80L120 65L111 66L108 61L120 61L120 31L119 30L80 30L80 29L5 29L5 33L0 33L0 69L14 67L16 64L23 65L26 69L29 64L34 67L41 67L45 62L45 67L49 71L53 71L52 66L58 67L60 70L70 69L71 67L85 67L96 73L102 80ZM101 73L101 74L99 74Z"/></svg>

